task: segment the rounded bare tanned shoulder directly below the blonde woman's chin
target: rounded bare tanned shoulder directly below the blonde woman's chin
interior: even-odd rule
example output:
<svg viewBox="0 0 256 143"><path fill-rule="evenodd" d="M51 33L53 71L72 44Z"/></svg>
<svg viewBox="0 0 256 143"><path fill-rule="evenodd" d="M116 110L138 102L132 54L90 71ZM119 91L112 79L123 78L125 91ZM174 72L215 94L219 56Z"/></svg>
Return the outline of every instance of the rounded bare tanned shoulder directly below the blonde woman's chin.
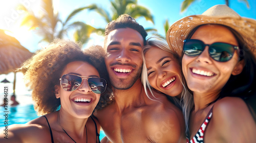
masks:
<svg viewBox="0 0 256 143"><path fill-rule="evenodd" d="M167 99L148 105L143 111L142 121L147 135L155 142L185 141L182 111Z"/></svg>

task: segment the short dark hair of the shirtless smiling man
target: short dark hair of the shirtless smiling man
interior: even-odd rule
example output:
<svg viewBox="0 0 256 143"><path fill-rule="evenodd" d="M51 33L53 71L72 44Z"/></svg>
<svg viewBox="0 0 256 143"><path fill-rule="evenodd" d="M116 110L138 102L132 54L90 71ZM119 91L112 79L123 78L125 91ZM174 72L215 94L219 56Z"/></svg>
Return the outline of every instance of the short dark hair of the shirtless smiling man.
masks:
<svg viewBox="0 0 256 143"><path fill-rule="evenodd" d="M122 14L116 20L109 22L108 25L106 26L104 48L106 48L106 39L108 39L108 35L110 34L110 32L120 28L131 28L138 31L143 38L144 45L146 44L147 33L143 28L143 26L139 25L139 23L136 22L136 20L130 15Z"/></svg>

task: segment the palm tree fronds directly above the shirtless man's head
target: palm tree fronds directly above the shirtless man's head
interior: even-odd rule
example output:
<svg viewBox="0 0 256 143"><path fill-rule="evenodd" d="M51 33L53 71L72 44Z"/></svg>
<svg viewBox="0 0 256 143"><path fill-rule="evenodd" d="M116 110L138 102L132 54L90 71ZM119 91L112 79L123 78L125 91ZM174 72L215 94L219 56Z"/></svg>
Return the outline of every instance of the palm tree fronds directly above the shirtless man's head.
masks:
<svg viewBox="0 0 256 143"><path fill-rule="evenodd" d="M103 17L106 23L118 18L119 15L124 13L129 14L134 18L144 17L146 20L154 24L153 16L147 8L137 4L137 0L111 0L111 12L102 9L96 4L88 6L88 10L93 10ZM156 29L146 29L146 31L156 31Z"/></svg>

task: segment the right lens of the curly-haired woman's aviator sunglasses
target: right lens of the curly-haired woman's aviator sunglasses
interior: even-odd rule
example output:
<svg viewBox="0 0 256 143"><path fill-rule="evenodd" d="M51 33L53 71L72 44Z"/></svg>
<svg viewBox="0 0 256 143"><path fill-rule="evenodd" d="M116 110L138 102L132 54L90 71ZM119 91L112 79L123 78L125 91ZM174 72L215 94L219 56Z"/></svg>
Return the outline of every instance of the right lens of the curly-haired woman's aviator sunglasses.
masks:
<svg viewBox="0 0 256 143"><path fill-rule="evenodd" d="M102 78L89 78L88 84L94 93L103 93L106 89L106 81Z"/></svg>

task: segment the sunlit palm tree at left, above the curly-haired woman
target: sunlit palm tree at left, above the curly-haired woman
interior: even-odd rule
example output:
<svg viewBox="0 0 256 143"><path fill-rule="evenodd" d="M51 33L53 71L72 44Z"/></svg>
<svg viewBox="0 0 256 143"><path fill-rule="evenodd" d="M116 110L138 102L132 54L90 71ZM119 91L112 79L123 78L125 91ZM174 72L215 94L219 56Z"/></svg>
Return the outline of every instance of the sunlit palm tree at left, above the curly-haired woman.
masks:
<svg viewBox="0 0 256 143"><path fill-rule="evenodd" d="M68 15L66 20L61 21L59 19L58 12L55 12L54 10L52 0L42 0L42 12L40 15L36 15L33 11L28 10L23 5L20 5L19 9L26 12L26 15L20 25L30 27L30 30L34 30L39 36L43 37L41 41L46 42L51 42L54 38L63 38L63 36L68 35L68 30L73 28L76 29L73 34L74 40L80 40L84 44L89 40L90 35L93 32L101 30L95 29L83 22L75 21L70 23L70 20L77 13L87 8L88 7L75 9ZM59 26L58 24L61 25L60 30L57 30Z"/></svg>

